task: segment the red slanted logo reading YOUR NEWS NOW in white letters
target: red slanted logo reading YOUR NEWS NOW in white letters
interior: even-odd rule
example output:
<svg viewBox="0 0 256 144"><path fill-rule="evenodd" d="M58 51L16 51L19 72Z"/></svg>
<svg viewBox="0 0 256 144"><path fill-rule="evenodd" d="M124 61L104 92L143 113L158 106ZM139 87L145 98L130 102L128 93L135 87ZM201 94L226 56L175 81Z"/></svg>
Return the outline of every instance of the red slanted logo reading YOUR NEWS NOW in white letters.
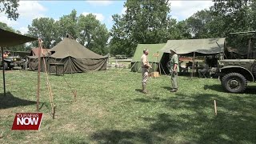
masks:
<svg viewBox="0 0 256 144"><path fill-rule="evenodd" d="M11 130L39 130L42 113L17 113Z"/></svg>

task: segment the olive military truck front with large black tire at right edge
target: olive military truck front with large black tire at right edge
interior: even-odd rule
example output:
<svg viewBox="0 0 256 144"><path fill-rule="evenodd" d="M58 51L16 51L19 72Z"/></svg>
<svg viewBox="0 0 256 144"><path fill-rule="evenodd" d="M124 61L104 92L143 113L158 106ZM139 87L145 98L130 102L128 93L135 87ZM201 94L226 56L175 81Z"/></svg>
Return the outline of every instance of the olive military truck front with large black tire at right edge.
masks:
<svg viewBox="0 0 256 144"><path fill-rule="evenodd" d="M240 33L245 34L246 32L234 34ZM247 42L248 54L246 59L223 59L218 61L218 76L220 76L222 86L227 92L242 93L246 90L248 82L255 82L255 44L252 39L250 38L249 42Z"/></svg>

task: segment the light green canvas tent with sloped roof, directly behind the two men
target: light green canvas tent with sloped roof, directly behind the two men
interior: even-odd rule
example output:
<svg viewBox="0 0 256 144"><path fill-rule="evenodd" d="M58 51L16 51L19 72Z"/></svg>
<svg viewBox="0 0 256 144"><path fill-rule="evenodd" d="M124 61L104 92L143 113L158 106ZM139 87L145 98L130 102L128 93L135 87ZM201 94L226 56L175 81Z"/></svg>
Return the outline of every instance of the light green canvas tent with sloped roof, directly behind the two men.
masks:
<svg viewBox="0 0 256 144"><path fill-rule="evenodd" d="M161 71L161 73L164 73L163 71L166 72L167 68L166 68L166 62L168 60L166 60L166 58L169 58L169 54L163 54L162 51L160 51L162 49L163 46L165 46L166 43L159 43L159 44L138 44L135 53L134 53L134 57L131 61L131 71L134 72L141 72L141 57L143 54L143 50L144 49L148 49L149 50L149 55L148 55L148 59L150 64L152 64L152 69L150 69L151 71ZM158 55L158 57L154 57ZM159 65L161 64L161 66ZM159 69L159 66L161 69Z"/></svg>

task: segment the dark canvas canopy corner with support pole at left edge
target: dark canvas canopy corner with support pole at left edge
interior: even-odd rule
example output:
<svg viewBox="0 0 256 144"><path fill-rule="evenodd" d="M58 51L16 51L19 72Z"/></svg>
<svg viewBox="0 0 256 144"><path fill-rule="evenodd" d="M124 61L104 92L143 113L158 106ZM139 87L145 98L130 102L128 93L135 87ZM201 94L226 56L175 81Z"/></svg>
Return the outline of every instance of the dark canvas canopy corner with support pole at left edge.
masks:
<svg viewBox="0 0 256 144"><path fill-rule="evenodd" d="M0 28L0 47L1 53L3 54L3 47L7 46L17 46L26 42L31 42L37 40L36 38L30 38L24 36L22 34L16 34L7 30L2 30ZM3 59L3 55L2 55ZM2 61L3 62L3 61ZM3 63L2 63L3 65ZM5 82L5 70L2 69L2 76L3 76L3 87L4 87L4 95L6 95L6 82Z"/></svg>

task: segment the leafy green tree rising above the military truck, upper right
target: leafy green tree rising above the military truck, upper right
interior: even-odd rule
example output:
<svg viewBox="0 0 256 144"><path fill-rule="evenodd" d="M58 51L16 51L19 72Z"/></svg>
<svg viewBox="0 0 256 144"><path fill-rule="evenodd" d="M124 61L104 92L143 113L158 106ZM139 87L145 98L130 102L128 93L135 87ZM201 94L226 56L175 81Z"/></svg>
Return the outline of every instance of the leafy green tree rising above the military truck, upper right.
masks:
<svg viewBox="0 0 256 144"><path fill-rule="evenodd" d="M230 34L231 32L250 31L255 29L254 0L214 0L210 7L214 16L222 18L222 31L228 45L246 54L251 34Z"/></svg>

